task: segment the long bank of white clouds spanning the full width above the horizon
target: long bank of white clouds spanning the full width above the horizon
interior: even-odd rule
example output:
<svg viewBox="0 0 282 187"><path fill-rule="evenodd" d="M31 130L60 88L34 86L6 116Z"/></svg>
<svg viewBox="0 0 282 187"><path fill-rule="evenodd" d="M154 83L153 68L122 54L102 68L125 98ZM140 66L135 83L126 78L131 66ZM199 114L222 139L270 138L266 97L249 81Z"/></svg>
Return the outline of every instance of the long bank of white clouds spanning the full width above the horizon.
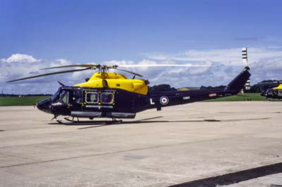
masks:
<svg viewBox="0 0 282 187"><path fill-rule="evenodd" d="M249 48L248 59L252 73L251 84L260 82L263 79L282 79L282 47ZM132 70L144 75L143 78L149 79L151 86L154 84L171 84L171 86L175 87L228 84L243 70L241 49L188 50L177 54L154 54L154 56L148 56L139 62L132 60L109 60L101 64L193 64L192 62L194 61L197 62L196 64L219 65L219 67L121 67L121 69ZM91 77L93 74L93 71L87 70L30 79L24 82L5 83L11 79L56 71L40 70L44 67L69 64L72 64L72 62L67 59L42 60L25 54L13 54L11 57L2 58L0 60L0 91L6 93L54 93L59 87L56 83L57 80L67 85L73 85L84 82L85 78ZM128 78L133 77L133 75L126 72L116 72L122 73Z"/></svg>

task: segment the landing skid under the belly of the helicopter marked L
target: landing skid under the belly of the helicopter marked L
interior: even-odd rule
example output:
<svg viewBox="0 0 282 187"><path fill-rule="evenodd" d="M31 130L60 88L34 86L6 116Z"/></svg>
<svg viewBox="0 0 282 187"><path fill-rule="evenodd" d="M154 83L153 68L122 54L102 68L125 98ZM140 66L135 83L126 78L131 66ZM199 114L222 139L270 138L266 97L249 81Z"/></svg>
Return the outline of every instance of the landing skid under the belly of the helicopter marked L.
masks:
<svg viewBox="0 0 282 187"><path fill-rule="evenodd" d="M87 125L87 124L121 124L123 122L123 120L116 120L116 118L112 118L112 120L95 120L95 121L80 121L78 120L74 120L74 117L72 119L69 119L68 117L64 117L63 119L65 119L67 122L63 122L62 120L56 120L59 124L66 124L66 125Z"/></svg>

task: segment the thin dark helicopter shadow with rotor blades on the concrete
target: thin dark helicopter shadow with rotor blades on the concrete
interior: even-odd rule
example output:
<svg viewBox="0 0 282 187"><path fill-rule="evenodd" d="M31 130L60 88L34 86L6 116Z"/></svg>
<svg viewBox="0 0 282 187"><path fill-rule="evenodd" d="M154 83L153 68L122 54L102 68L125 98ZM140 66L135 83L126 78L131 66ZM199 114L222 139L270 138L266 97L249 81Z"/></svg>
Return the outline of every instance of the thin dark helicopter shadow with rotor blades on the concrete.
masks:
<svg viewBox="0 0 282 187"><path fill-rule="evenodd" d="M112 121L81 121L81 122L61 122L64 125L90 125L90 127L81 127L78 129L90 129L96 127L106 127L109 125L118 125L118 124L148 124L148 123L171 123L171 122L240 122L240 121L252 121L252 120L269 120L269 117L261 118L247 118L247 119L228 119L228 120L214 120L214 119L204 119L204 120L156 120L163 116L150 117L142 120L133 120L133 121L122 121L122 122L112 122ZM58 123L49 123L49 124L58 124Z"/></svg>

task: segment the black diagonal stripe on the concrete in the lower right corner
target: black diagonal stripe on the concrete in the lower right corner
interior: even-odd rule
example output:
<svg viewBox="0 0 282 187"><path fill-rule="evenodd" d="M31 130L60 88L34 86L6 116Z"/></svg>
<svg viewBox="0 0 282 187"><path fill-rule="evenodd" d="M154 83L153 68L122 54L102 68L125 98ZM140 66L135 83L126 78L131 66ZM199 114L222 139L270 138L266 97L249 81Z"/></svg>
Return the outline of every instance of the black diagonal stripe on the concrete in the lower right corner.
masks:
<svg viewBox="0 0 282 187"><path fill-rule="evenodd" d="M256 179L258 177L282 173L282 162L274 165L266 165L263 167L256 167L252 169L243 170L231 174L223 174L220 176L212 176L206 179L200 179L197 181L190 181L187 183L180 183L170 187L215 187L229 185L232 183L238 183L240 181L247 181L250 179Z"/></svg>

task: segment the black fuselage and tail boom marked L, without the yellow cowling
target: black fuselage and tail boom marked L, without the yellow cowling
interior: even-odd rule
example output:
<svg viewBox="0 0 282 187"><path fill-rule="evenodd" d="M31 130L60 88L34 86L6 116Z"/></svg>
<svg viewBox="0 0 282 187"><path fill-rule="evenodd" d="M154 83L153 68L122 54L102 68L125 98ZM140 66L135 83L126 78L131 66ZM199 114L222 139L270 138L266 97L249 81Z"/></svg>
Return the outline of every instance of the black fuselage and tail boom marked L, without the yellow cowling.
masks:
<svg viewBox="0 0 282 187"><path fill-rule="evenodd" d="M134 118L137 112L151 108L161 110L166 106L235 95L249 79L249 70L245 67L224 89L213 90L158 91L143 95L123 89L61 86L54 96L38 103L37 108L55 116Z"/></svg>

